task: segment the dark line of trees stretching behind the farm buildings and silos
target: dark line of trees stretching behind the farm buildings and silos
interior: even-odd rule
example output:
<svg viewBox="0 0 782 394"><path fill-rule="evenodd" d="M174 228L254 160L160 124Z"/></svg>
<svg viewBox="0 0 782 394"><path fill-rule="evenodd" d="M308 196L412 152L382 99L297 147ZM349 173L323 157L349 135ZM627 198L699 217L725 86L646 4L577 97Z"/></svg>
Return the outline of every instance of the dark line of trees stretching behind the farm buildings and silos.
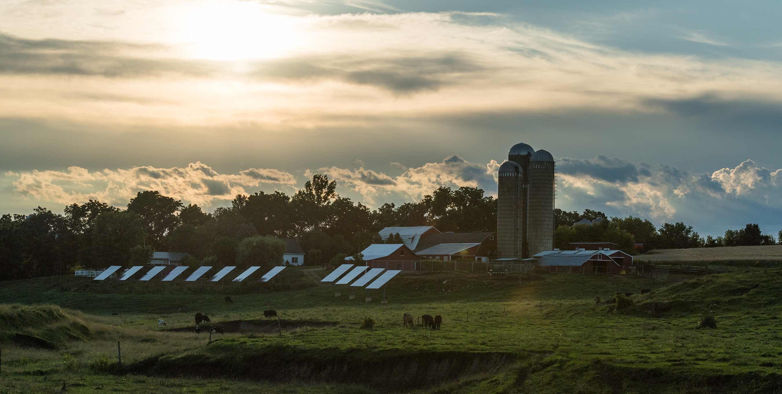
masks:
<svg viewBox="0 0 782 394"><path fill-rule="evenodd" d="M62 215L40 206L29 215L5 214L0 217L0 280L70 274L76 267L143 265L152 251L189 253L188 264L278 265L285 263L285 243L279 238L296 238L307 253L305 262L319 265L361 257L368 245L384 242L378 235L383 227L497 231L497 200L480 188L441 187L418 202L386 203L376 210L338 195L335 188L328 176L315 174L293 195L237 195L231 206L212 213L145 191L124 210L90 200L66 206ZM573 225L597 218L603 220ZM757 224L704 239L681 222L656 228L649 220L609 219L594 210L555 210L554 219L555 247L562 249L569 249L569 242L614 242L628 253L634 253L635 242L644 242L647 250L776 243Z"/></svg>

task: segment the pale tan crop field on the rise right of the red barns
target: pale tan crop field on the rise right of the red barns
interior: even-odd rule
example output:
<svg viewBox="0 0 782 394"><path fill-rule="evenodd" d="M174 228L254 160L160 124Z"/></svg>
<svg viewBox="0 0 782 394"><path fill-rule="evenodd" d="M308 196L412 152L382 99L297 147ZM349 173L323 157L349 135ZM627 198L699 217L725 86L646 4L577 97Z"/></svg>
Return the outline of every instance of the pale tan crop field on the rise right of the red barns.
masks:
<svg viewBox="0 0 782 394"><path fill-rule="evenodd" d="M637 261L662 262L775 262L782 263L782 245L730 246L726 248L662 249L635 256Z"/></svg>

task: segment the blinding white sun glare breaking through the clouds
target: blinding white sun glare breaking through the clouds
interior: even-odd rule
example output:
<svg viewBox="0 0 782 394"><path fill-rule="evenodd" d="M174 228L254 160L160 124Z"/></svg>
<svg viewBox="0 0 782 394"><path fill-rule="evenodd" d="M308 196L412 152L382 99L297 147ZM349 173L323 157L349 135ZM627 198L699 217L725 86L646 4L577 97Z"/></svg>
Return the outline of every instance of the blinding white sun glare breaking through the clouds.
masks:
<svg viewBox="0 0 782 394"><path fill-rule="evenodd" d="M292 50L294 19L253 2L194 2L176 16L176 41L197 59L274 58Z"/></svg>

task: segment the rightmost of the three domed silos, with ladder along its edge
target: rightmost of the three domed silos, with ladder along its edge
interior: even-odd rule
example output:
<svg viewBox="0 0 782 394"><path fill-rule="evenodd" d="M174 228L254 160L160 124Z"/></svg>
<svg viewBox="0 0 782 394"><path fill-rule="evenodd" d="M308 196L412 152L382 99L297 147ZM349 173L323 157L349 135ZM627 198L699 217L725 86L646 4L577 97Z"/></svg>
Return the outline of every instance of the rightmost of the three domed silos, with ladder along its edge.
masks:
<svg viewBox="0 0 782 394"><path fill-rule="evenodd" d="M529 256L554 249L554 157L543 149L529 159L526 240Z"/></svg>

